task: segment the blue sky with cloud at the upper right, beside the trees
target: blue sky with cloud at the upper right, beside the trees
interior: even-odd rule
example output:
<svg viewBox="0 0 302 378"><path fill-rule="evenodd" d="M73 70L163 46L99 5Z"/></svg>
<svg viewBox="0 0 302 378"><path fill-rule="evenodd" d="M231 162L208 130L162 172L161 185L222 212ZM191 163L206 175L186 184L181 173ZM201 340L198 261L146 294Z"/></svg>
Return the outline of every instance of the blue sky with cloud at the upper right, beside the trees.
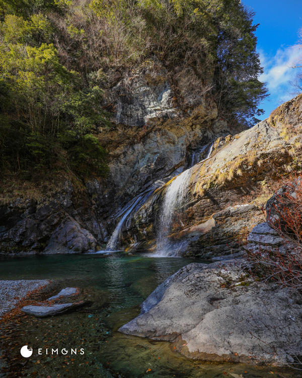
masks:
<svg viewBox="0 0 302 378"><path fill-rule="evenodd" d="M260 80L268 84L270 96L260 105L265 110L261 118L284 101L295 96L293 81L297 70L294 62L302 60L299 30L302 28L302 0L242 0L256 15L258 52L264 73ZM300 42L302 43L302 42Z"/></svg>

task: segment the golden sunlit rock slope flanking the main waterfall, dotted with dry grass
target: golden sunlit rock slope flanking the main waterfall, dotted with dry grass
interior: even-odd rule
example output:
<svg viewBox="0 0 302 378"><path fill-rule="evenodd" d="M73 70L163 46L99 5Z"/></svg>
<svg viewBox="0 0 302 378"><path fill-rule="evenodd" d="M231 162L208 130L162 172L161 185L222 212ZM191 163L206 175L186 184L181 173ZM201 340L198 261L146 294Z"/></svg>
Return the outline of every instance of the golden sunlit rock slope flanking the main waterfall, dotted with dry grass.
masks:
<svg viewBox="0 0 302 378"><path fill-rule="evenodd" d="M189 239L186 254L209 257L221 251L230 253L263 221L261 209L276 180L299 168L301 103L300 95L253 128L219 137L211 156L191 168L187 193L181 206L175 206L169 230L171 239ZM167 190L163 186L137 211L124 232L128 242L156 239ZM238 205L247 207L223 212ZM210 219L213 226L209 229L206 222Z"/></svg>

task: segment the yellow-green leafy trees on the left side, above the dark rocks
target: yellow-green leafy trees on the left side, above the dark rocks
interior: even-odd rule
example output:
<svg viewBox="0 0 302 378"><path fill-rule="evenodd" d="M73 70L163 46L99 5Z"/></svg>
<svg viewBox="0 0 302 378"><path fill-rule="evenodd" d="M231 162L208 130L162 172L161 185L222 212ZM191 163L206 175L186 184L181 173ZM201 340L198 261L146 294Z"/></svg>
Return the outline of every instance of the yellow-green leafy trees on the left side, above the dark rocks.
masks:
<svg viewBox="0 0 302 378"><path fill-rule="evenodd" d="M82 176L106 174L106 153L91 134L109 125L103 91L84 85L62 65L54 44L43 42L52 33L45 15L8 14L1 33L1 168L34 173L57 165Z"/></svg>

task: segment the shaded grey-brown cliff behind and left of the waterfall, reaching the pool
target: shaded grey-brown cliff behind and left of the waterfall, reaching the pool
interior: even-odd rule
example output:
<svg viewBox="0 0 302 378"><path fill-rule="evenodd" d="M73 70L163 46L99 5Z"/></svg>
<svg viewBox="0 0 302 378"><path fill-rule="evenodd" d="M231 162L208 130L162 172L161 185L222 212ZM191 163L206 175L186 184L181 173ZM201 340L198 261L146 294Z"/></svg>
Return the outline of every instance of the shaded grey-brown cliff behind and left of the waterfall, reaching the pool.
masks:
<svg viewBox="0 0 302 378"><path fill-rule="evenodd" d="M107 103L115 125L99 135L109 153L109 177L83 184L69 175L53 191L38 188L38 195L5 199L0 207L2 253L95 250L108 240L115 214L127 201L181 172L201 145L240 129L217 118L210 97L183 109L158 61L145 62L132 77L115 83Z"/></svg>

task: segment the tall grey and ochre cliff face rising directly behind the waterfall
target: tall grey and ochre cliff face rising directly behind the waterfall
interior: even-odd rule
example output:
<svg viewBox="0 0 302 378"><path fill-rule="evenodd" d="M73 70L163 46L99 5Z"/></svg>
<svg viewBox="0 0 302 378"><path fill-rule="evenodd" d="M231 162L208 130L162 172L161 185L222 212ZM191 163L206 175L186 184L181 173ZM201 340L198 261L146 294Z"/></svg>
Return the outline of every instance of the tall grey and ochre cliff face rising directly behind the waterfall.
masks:
<svg viewBox="0 0 302 378"><path fill-rule="evenodd" d="M131 200L157 179L185 166L191 151L242 130L218 118L210 95L200 95L193 106L177 95L181 89L171 72L154 58L108 90L117 126L102 130L100 140L109 152L108 182L114 185L117 197ZM116 198L118 204L122 201Z"/></svg>

